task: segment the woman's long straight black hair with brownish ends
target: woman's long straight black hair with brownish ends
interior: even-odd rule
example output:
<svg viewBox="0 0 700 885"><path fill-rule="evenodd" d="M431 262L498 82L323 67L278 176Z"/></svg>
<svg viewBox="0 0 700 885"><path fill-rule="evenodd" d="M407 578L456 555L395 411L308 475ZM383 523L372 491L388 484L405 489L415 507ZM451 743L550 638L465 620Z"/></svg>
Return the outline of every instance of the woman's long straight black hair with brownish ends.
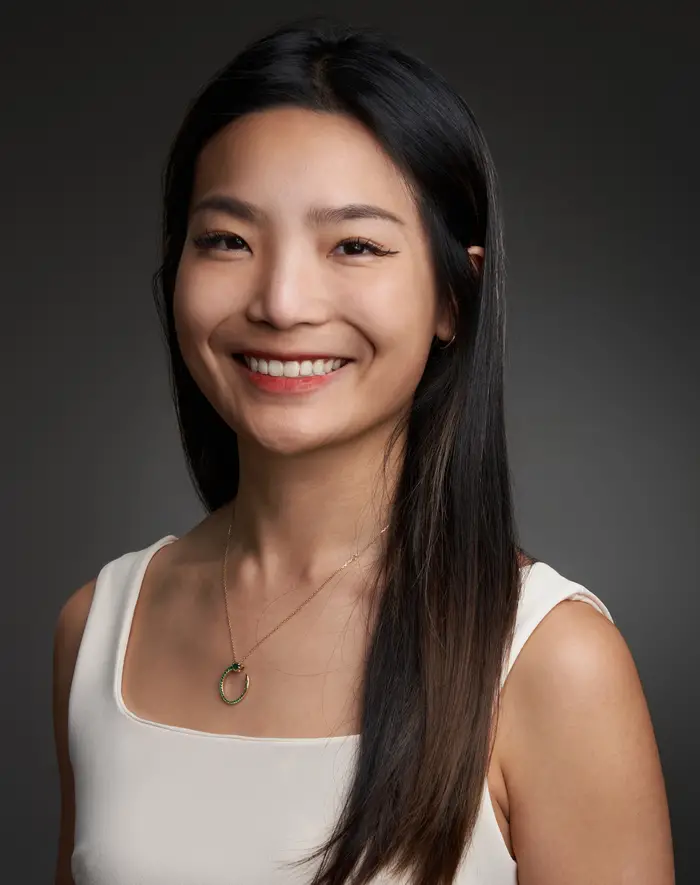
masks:
<svg viewBox="0 0 700 885"><path fill-rule="evenodd" d="M188 467L210 512L235 497L239 464L236 434L195 384L175 333L195 163L222 127L282 105L348 115L373 134L412 189L455 321L453 344L433 346L401 428L354 780L332 834L302 863L319 861L313 885L363 885L381 869L410 871L415 885L449 883L485 789L520 589L496 175L465 101L368 29L318 18L284 26L205 85L165 168L154 294ZM470 245L485 249L480 268Z"/></svg>

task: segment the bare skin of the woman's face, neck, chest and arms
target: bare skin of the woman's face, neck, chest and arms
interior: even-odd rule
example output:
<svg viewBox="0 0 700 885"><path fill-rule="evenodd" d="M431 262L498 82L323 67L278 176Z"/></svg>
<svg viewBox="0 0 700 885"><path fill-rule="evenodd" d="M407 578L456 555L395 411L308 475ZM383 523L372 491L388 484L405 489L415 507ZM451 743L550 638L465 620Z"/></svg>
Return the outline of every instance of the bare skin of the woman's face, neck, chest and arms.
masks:
<svg viewBox="0 0 700 885"><path fill-rule="evenodd" d="M198 209L203 201L209 207ZM313 209L349 204L378 206L400 221L310 219ZM197 249L207 230L226 238ZM343 245L356 237L395 254ZM470 254L479 267L483 250ZM292 108L244 118L199 158L174 308L190 371L239 438L228 571L237 650L245 654L364 550L329 592L255 650L235 732L356 733L371 629L366 588L396 462L385 483L378 470L433 336L451 337L410 191L352 120ZM352 362L313 394L275 397L232 361L246 350ZM201 690L231 659L220 585L230 516L228 507L207 516L147 569L122 684L127 707L144 718L216 733L234 727L231 710ZM56 626L58 885L72 882L67 704L93 592L94 581L76 591ZM488 782L520 885L673 882L664 784L639 677L617 628L591 606L560 603L525 644L502 694Z"/></svg>

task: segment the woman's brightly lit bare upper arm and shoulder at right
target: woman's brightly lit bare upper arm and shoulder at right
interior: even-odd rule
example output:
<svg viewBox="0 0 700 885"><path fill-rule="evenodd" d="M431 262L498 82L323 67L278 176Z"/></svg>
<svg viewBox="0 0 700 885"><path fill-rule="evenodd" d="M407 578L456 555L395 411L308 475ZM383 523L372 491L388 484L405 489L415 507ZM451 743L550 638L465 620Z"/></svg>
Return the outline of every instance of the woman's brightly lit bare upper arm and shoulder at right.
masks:
<svg viewBox="0 0 700 885"><path fill-rule="evenodd" d="M609 620L585 602L555 606L513 665L499 727L520 885L672 885L653 727Z"/></svg>

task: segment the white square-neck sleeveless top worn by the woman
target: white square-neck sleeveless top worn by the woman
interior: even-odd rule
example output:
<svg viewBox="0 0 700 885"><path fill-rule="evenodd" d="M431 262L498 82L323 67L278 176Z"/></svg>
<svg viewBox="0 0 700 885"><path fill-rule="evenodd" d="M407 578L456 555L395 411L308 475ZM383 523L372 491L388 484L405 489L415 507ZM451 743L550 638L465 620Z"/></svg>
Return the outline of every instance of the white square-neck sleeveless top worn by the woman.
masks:
<svg viewBox="0 0 700 885"><path fill-rule="evenodd" d="M131 620L151 557L167 535L105 565L97 578L69 699L75 776L75 885L307 885L313 868L285 866L330 834L349 786L356 735L256 738L164 725L121 694ZM544 562L523 588L502 682L542 618L590 590ZM516 885L488 785L455 885ZM377 885L400 880L383 875Z"/></svg>

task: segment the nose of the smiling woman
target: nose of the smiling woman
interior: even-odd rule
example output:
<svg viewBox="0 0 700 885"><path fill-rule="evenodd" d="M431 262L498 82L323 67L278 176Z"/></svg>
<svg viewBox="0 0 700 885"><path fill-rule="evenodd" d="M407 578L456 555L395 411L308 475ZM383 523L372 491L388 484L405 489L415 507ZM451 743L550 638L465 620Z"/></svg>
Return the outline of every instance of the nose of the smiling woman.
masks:
<svg viewBox="0 0 700 885"><path fill-rule="evenodd" d="M326 288L318 258L299 247L281 248L261 261L247 317L280 331L300 324L321 325L331 307Z"/></svg>

